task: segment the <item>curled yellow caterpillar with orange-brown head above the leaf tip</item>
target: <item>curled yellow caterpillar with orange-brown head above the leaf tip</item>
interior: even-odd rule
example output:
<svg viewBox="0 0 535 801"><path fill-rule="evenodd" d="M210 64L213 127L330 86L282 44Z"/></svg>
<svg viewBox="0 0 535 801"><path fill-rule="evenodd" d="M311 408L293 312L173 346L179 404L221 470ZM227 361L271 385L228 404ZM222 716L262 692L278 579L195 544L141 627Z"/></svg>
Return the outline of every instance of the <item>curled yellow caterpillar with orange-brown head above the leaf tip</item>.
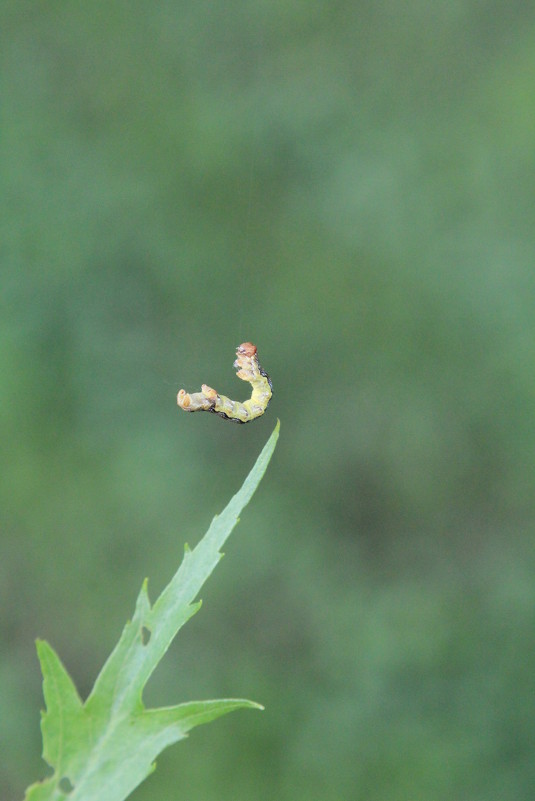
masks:
<svg viewBox="0 0 535 801"><path fill-rule="evenodd" d="M201 392L193 392L191 395L181 389L176 398L177 404L185 412L212 412L224 420L232 420L233 423L249 423L260 417L268 407L273 387L271 378L260 367L256 345L244 342L236 349L234 369L238 371L238 378L248 381L253 388L249 400L243 403L233 401L203 384Z"/></svg>

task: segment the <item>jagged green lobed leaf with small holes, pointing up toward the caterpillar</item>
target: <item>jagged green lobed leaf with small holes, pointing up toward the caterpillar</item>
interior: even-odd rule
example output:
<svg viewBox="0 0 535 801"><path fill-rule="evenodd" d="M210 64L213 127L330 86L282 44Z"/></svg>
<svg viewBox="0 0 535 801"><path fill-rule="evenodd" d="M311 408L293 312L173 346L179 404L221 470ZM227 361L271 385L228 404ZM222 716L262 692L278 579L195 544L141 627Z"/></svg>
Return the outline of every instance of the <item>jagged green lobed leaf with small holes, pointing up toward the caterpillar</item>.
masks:
<svg viewBox="0 0 535 801"><path fill-rule="evenodd" d="M279 423L242 488L197 547L185 548L182 564L152 607L143 583L134 616L85 703L54 650L37 643L47 707L41 722L43 757L54 773L29 787L26 801L122 801L154 770L158 754L190 729L235 709L262 709L240 698L145 709L142 694L178 630L199 609L199 590L258 487L278 435Z"/></svg>

